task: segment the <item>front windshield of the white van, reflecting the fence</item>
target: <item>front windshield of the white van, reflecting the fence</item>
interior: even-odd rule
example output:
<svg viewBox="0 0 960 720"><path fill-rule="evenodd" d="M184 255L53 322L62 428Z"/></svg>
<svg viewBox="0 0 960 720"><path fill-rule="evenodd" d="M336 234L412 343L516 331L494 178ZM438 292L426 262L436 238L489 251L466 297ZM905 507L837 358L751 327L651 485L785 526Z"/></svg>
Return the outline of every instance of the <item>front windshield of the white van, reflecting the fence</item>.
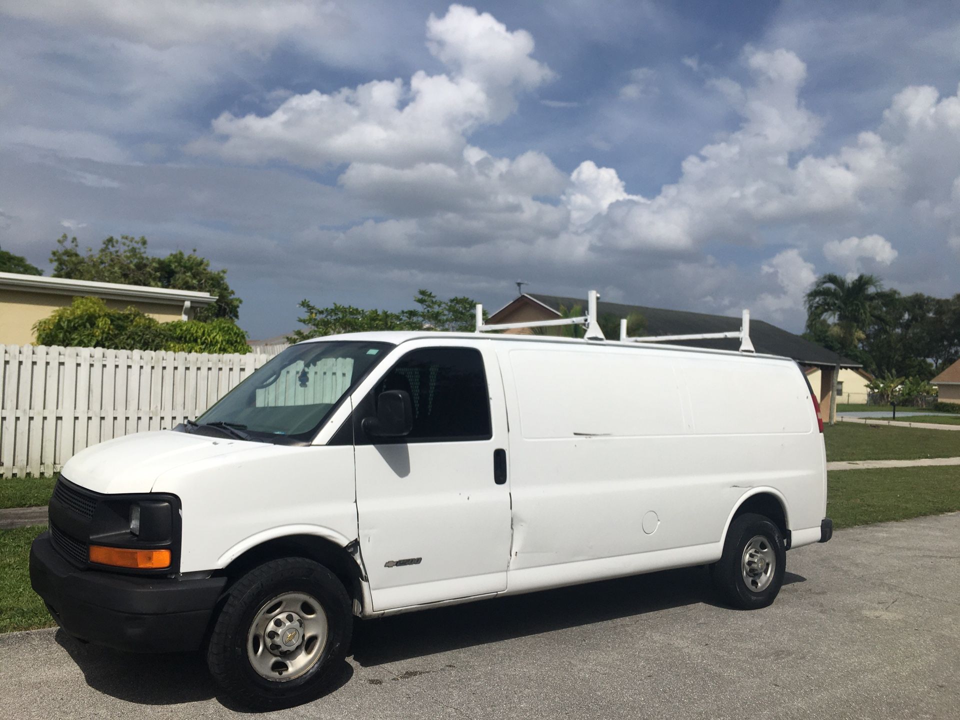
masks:
<svg viewBox="0 0 960 720"><path fill-rule="evenodd" d="M268 443L308 442L340 398L390 348L389 343L354 341L287 348L186 429Z"/></svg>

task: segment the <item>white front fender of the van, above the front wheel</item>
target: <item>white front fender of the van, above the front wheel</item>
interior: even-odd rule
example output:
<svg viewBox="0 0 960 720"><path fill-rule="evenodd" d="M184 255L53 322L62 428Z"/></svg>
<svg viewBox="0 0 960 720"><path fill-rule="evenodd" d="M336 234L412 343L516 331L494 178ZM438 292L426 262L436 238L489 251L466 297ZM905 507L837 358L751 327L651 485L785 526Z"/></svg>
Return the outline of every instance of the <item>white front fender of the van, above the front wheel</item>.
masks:
<svg viewBox="0 0 960 720"><path fill-rule="evenodd" d="M172 492L182 503L181 572L226 566L275 528L357 537L351 446L243 444L253 449L156 479L154 492Z"/></svg>

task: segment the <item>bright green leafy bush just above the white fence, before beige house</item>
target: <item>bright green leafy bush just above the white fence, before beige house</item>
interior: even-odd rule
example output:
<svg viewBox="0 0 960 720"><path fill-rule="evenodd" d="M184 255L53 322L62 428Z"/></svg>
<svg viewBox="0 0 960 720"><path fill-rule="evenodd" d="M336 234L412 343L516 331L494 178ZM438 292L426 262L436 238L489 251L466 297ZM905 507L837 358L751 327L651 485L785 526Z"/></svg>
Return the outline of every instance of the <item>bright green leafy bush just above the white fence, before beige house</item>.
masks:
<svg viewBox="0 0 960 720"><path fill-rule="evenodd" d="M37 345L176 352L250 352L247 333L225 318L160 323L135 307L118 310L100 298L74 298L34 325Z"/></svg>

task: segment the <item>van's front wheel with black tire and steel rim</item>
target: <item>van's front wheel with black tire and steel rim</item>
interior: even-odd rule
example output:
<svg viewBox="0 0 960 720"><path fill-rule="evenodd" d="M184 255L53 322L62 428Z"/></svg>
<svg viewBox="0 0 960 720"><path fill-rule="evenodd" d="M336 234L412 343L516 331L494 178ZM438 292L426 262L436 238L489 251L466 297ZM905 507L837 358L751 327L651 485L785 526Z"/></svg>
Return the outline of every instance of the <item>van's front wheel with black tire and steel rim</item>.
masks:
<svg viewBox="0 0 960 720"><path fill-rule="evenodd" d="M342 669L353 616L347 590L323 565L283 558L254 567L229 590L206 662L252 709L318 697Z"/></svg>

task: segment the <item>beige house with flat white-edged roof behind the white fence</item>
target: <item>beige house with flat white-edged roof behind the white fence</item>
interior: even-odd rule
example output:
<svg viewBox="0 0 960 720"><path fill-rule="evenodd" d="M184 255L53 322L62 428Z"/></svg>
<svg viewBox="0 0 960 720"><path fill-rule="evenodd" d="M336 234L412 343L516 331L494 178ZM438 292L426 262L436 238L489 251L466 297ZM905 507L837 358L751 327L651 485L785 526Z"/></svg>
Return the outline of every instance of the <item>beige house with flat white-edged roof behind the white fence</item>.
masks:
<svg viewBox="0 0 960 720"><path fill-rule="evenodd" d="M101 298L113 308L132 305L161 323L192 320L196 308L217 300L192 290L0 273L0 345L30 345L36 321L78 297Z"/></svg>

